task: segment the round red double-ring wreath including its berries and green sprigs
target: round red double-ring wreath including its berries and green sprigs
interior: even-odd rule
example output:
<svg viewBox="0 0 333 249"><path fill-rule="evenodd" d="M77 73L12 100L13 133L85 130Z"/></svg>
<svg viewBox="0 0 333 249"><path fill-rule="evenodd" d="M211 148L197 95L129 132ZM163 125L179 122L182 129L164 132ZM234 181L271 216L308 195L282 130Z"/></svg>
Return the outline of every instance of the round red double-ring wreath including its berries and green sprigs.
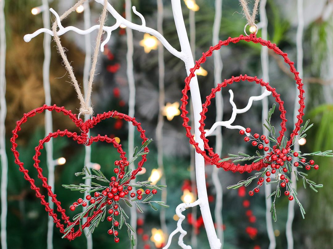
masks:
<svg viewBox="0 0 333 249"><path fill-rule="evenodd" d="M246 27L246 26L245 26ZM216 88L211 90L211 93L206 96L206 101L202 104L202 112L200 112L201 119L200 119L200 127L199 131L201 132L200 138L203 140L204 149L200 149L198 143L194 140L194 135L191 134L191 127L188 125L189 118L186 116L188 111L186 110L187 105L187 91L190 89L189 84L192 77L195 76L195 70L200 68L200 65L206 61L206 58L212 55L212 52L215 50L219 50L222 46L227 46L229 43L238 43L239 41L246 41L246 42L253 42L259 43L262 46L266 46L268 49L274 51L277 55L283 57L284 62L287 63L290 67L290 71L295 75L295 80L297 89L299 90L299 105L300 108L298 109L297 115L297 122L295 123L295 128L290 134L290 138L288 139L285 136L286 131L286 116L285 116L285 109L283 106L283 101L280 98L280 94L276 92L276 89L269 85L268 82L264 82L262 79L258 79L256 76L251 77L248 75L240 75L240 76L232 76L230 79L225 79L222 83L219 83ZM276 190L270 196L274 195L274 200L272 202L271 212L273 213L273 219L276 220L276 213L275 213L275 200L276 197L279 197L281 194L281 188L285 188L284 194L288 196L289 200L293 200L295 198L296 202L298 203L302 216L304 217L305 211L302 204L299 202L297 198L297 192L292 187L290 181L290 174L295 174L296 179L302 178L304 182L304 187L308 184L314 191L317 192L316 188L322 187L321 184L316 184L311 180L306 178L307 174L297 169L305 167L306 170L310 170L312 167L315 170L319 169L319 166L314 163L313 160L306 160L307 156L330 156L332 157L333 154L331 153L332 150L325 151L325 152L314 152L314 153L301 153L300 151L293 151L291 147L294 145L296 140L304 138L306 136L306 131L312 127L313 124L309 125L310 120L305 122L304 126L301 126L303 123L302 117L304 115L304 90L303 90L303 83L298 76L298 72L294 67L294 62L291 62L286 53L283 53L276 44L272 44L270 41L265 41L261 38L256 37L255 34L250 34L246 36L239 36L235 38L228 38L225 41L219 41L217 45L214 47L210 47L206 53L202 54L202 57L196 61L196 64L193 68L190 69L190 74L185 78L185 88L182 90L183 97L181 98L182 105L181 110L182 114L181 117L183 118L183 126L186 129L186 136L189 138L190 144L195 147L197 153L201 154L205 161L210 162L212 165L216 165L217 168L223 168L225 171L232 171L232 172L252 172L258 171L255 173L254 176L248 178L247 180L240 181L238 184L229 186L228 188L238 188L241 186L248 186L254 179L258 178L257 186L249 191L249 195L253 195L254 192L259 192L259 187L263 185L264 182L266 184L277 183ZM239 152L238 155L228 154L228 158L221 159L220 156L214 153L213 148L208 145L208 139L206 138L206 132L204 131L204 120L206 119L205 113L208 111L208 106L210 105L211 99L215 97L215 93L220 91L222 87L227 86L228 84L232 84L234 82L239 81L249 81L255 82L256 84L260 84L261 86L265 87L267 91L272 93L272 96L275 98L276 103L279 106L279 111L281 112L281 130L276 133L275 127L271 125L271 116L275 110L275 104L269 110L268 118L266 119L266 123L263 124L264 127L269 131L270 136L266 137L265 135L259 135L258 133L251 134L250 128L243 128L242 126L229 126L227 128L240 129L239 133L241 135L246 135L244 137L245 142L251 142L252 146L255 146L259 149L256 151L255 156L250 156L245 153ZM269 142L274 143L273 146L270 146ZM228 161L232 160L232 163ZM252 161L250 165L240 165L238 162L241 161ZM236 163L236 164L235 164ZM272 179L272 175L275 175L275 181Z"/></svg>

